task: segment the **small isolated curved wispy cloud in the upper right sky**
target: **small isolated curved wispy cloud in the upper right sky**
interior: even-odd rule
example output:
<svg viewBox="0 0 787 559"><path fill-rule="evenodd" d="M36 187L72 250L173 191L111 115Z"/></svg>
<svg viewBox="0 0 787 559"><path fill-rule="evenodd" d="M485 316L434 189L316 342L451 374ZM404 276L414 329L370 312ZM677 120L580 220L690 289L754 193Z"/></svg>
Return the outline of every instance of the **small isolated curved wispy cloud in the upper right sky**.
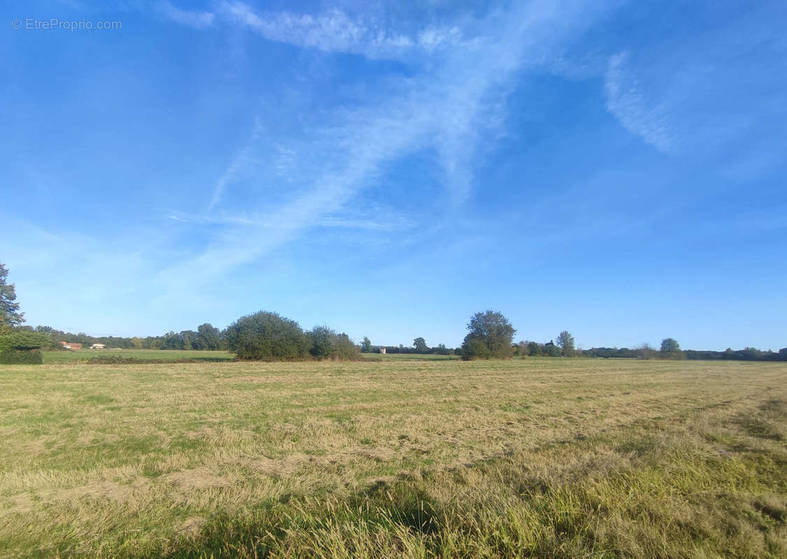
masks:
<svg viewBox="0 0 787 559"><path fill-rule="evenodd" d="M645 100L641 86L628 68L629 54L617 53L610 57L604 77L607 109L626 130L637 134L661 152L669 152L673 145L663 107Z"/></svg>

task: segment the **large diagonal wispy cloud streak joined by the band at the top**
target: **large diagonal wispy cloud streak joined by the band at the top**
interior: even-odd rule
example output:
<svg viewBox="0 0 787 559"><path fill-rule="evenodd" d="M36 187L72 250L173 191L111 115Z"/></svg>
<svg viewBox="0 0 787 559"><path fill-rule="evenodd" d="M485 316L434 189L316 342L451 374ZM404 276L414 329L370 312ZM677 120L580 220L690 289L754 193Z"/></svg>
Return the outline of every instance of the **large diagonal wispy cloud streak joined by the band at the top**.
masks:
<svg viewBox="0 0 787 559"><path fill-rule="evenodd" d="M342 13L294 17L262 17L242 2L223 2L225 11L243 25L272 39L323 50L379 53L420 42L434 46L461 35L424 33L416 39L378 31L349 20ZM302 186L289 200L266 208L265 219L227 223L201 254L164 270L161 278L179 285L179 278L209 282L225 270L253 262L293 241L303 231L342 219L354 197L374 185L386 165L423 149L440 154L448 199L460 204L471 193L473 170L482 140L495 138L505 126L505 100L519 72L556 56L564 42L589 24L593 10L582 2L555 6L533 2L508 13L494 13L477 22L477 39L457 45L435 58L428 70L410 79L380 82L375 97L351 108L338 107L310 127L301 142L292 132L272 145L260 146L253 134L224 175L216 182L210 211L220 208L227 188L239 176L248 177L249 160L256 157L320 164L290 166L290 181ZM268 134L266 134L268 135ZM297 134L295 134L297 136ZM267 153L257 153L264 149ZM285 165L286 167L286 165ZM281 166L279 166L281 168ZM253 168L253 180L273 182L277 167ZM279 183L279 190L281 184ZM244 200L245 204L261 203Z"/></svg>

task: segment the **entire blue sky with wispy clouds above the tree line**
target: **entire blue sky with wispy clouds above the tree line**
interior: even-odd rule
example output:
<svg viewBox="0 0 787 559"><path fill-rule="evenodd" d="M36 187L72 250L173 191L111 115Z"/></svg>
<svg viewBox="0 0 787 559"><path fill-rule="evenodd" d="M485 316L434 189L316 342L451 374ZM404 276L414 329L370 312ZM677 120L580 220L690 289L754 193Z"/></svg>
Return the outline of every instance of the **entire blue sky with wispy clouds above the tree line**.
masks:
<svg viewBox="0 0 787 559"><path fill-rule="evenodd" d="M787 346L785 2L2 14L0 261L28 324L265 309L456 346L493 308L517 340Z"/></svg>

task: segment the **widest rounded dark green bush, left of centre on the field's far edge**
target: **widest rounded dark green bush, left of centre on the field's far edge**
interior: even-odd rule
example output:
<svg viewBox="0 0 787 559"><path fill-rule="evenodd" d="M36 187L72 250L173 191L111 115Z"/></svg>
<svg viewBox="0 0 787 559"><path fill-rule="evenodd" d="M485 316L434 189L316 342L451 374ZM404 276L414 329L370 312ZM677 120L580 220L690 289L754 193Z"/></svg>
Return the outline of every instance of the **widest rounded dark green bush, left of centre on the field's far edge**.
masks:
<svg viewBox="0 0 787 559"><path fill-rule="evenodd" d="M304 359L311 347L297 322L275 312L238 318L226 333L229 350L238 359Z"/></svg>

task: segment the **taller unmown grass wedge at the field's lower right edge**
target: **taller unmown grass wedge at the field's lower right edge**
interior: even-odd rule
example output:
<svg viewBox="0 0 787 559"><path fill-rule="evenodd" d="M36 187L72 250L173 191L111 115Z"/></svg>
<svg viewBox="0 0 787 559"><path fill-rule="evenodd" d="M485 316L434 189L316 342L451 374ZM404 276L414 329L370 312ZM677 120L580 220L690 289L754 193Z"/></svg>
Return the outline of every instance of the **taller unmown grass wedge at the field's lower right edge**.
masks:
<svg viewBox="0 0 787 559"><path fill-rule="evenodd" d="M751 411L753 423L698 412L685 428L558 441L351 495L287 495L139 554L787 557L785 404Z"/></svg>

